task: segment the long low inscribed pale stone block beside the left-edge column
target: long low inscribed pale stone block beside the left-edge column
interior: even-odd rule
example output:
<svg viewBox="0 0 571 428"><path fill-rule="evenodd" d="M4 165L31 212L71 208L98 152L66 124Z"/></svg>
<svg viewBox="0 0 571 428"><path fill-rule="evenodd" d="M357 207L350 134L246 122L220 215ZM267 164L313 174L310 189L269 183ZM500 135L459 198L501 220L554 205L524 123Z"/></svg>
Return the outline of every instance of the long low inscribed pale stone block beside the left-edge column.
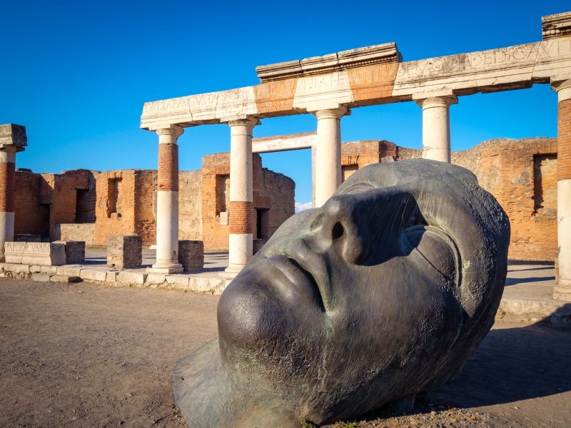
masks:
<svg viewBox="0 0 571 428"><path fill-rule="evenodd" d="M66 250L58 243L14 243L4 245L6 263L61 266L66 264Z"/></svg>

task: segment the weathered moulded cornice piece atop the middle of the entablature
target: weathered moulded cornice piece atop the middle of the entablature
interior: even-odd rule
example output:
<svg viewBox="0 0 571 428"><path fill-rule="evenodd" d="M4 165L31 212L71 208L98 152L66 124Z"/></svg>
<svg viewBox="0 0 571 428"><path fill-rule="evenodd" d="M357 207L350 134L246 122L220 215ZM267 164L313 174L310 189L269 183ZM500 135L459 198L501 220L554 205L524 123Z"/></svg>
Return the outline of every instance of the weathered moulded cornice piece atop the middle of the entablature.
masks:
<svg viewBox="0 0 571 428"><path fill-rule="evenodd" d="M262 83L325 74L348 68L369 66L380 63L395 63L403 61L397 45L394 42L349 49L337 54L311 56L302 60L285 61L256 67L256 73Z"/></svg>

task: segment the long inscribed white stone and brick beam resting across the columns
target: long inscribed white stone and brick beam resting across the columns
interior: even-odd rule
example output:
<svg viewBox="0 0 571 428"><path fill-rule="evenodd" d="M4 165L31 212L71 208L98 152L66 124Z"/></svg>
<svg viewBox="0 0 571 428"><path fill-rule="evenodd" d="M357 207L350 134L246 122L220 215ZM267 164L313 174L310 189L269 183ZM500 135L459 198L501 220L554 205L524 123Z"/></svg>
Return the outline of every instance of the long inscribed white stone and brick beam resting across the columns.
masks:
<svg viewBox="0 0 571 428"><path fill-rule="evenodd" d="M366 49L370 48L363 48L348 54L348 58L353 55L348 61L354 66L340 66L341 53L273 64L258 68L262 83L256 86L145 103L141 128L153 130L171 124L186 127L247 116L288 116L339 106L411 101L413 97L441 93L464 96L565 80L571 77L567 17L557 14L543 18L545 29L547 24L557 23L555 36L500 49L418 61L367 63L355 59L368 55Z"/></svg>

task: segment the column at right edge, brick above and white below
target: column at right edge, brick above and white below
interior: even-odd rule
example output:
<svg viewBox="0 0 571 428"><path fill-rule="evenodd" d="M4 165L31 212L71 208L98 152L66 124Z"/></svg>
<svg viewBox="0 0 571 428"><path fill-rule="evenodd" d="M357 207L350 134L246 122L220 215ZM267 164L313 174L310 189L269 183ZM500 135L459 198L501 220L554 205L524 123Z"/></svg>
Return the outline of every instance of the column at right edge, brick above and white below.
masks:
<svg viewBox="0 0 571 428"><path fill-rule="evenodd" d="M559 281L553 298L571 302L571 79L552 81L557 91L557 247Z"/></svg>

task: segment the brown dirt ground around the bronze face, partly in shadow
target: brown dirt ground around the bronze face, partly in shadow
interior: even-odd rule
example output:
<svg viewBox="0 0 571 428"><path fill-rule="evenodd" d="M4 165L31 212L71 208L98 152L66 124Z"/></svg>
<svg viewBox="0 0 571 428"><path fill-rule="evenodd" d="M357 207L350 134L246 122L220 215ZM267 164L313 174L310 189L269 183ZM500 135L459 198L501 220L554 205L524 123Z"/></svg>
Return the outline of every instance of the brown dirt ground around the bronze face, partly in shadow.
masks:
<svg viewBox="0 0 571 428"><path fill-rule="evenodd" d="M218 297L0 279L0 427L186 427L174 362L216 337ZM571 332L497 324L460 378L335 427L570 427Z"/></svg>

